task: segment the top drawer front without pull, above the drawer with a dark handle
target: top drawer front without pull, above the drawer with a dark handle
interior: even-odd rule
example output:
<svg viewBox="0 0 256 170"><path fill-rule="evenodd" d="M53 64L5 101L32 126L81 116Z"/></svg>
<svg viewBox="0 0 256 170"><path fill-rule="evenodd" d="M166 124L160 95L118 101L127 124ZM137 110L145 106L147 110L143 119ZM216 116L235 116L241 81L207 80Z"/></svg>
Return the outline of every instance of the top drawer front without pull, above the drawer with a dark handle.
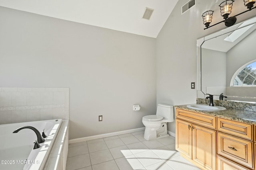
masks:
<svg viewBox="0 0 256 170"><path fill-rule="evenodd" d="M252 125L250 124L218 117L217 130L252 140Z"/></svg>

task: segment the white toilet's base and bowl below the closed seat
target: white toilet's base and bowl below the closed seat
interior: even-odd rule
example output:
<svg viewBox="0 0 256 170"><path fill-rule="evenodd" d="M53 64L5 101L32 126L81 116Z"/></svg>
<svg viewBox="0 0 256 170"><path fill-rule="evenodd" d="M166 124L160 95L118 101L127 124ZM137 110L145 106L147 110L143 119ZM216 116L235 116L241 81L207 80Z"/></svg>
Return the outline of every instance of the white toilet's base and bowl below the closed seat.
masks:
<svg viewBox="0 0 256 170"><path fill-rule="evenodd" d="M146 127L145 128L145 133L144 133L144 139L147 141L154 140L154 139L160 139L163 137L168 137L169 135L167 134L167 123L162 123L160 128L157 130L153 130Z"/></svg>

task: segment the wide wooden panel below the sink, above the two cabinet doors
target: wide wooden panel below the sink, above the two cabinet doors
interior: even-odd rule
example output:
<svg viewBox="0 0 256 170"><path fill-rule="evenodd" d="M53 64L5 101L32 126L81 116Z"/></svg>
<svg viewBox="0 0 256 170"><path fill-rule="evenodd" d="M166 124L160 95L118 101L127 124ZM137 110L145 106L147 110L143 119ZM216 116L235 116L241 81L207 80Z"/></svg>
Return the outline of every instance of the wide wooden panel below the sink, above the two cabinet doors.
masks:
<svg viewBox="0 0 256 170"><path fill-rule="evenodd" d="M176 109L176 117L184 119L191 123L197 123L202 126L216 129L216 117L210 115L204 115L200 113L194 113L182 109Z"/></svg>

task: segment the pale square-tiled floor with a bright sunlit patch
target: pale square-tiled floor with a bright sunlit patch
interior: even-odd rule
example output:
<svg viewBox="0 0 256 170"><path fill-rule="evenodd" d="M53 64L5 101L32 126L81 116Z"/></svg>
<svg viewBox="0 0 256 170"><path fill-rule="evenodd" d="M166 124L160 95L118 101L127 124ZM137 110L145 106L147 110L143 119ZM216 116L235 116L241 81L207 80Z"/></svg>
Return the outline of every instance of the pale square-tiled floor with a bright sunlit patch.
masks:
<svg viewBox="0 0 256 170"><path fill-rule="evenodd" d="M175 150L172 136L146 141L144 131L72 143L66 170L200 170Z"/></svg>

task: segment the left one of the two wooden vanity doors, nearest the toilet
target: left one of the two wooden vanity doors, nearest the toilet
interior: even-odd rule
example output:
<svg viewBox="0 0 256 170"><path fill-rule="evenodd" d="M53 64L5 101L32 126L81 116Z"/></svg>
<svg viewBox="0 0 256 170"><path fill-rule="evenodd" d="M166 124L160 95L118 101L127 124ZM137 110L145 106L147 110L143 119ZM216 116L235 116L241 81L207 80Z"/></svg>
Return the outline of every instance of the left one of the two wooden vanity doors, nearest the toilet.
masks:
<svg viewBox="0 0 256 170"><path fill-rule="evenodd" d="M192 159L192 124L176 119L175 149Z"/></svg>

